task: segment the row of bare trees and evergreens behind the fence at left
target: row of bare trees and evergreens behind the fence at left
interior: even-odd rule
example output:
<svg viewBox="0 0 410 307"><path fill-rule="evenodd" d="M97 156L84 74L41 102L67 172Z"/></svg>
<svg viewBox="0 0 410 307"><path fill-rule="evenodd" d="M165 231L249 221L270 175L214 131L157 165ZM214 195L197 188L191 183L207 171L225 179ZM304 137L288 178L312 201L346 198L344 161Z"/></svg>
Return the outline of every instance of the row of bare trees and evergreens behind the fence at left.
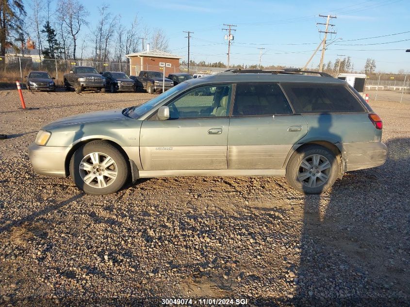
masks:
<svg viewBox="0 0 410 307"><path fill-rule="evenodd" d="M79 0L31 0L29 8L30 15L23 0L0 0L0 56L9 48L24 55L29 37L46 59L124 61L126 54L142 50L142 38L151 48L168 49L164 31L148 27L138 16L121 23L121 16L113 15L107 4L98 7L93 25Z"/></svg>

